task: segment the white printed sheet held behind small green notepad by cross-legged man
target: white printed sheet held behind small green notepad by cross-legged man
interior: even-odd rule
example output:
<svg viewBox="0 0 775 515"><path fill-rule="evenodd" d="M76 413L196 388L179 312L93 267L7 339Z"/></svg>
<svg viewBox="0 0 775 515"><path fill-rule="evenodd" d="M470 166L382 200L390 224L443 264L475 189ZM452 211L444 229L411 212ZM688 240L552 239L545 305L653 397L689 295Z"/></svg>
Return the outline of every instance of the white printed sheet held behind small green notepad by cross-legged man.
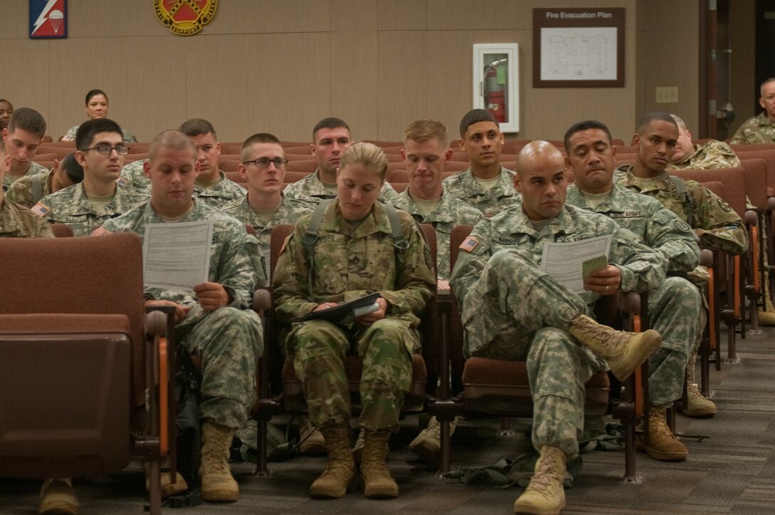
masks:
<svg viewBox="0 0 775 515"><path fill-rule="evenodd" d="M608 256L612 235L596 236L578 242L556 242L543 245L541 271L574 293L584 293L582 263L597 256Z"/></svg>

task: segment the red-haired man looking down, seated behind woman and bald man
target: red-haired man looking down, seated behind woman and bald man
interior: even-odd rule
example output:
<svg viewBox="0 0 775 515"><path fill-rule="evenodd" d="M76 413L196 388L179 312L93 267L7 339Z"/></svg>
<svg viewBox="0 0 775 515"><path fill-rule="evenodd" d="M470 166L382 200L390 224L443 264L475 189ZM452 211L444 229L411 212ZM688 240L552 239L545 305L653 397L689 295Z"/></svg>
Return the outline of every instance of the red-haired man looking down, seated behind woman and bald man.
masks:
<svg viewBox="0 0 775 515"><path fill-rule="evenodd" d="M444 163L452 156L447 148L447 132L442 122L415 120L404 130L401 158L409 173L409 187L392 204L407 211L419 223L436 228L436 276L439 290L449 290L449 235L455 225L475 225L482 214L477 208L444 191ZM455 424L450 424L452 431ZM441 441L436 417L431 417L409 448L425 461L439 464ZM358 439L353 451L360 448Z"/></svg>

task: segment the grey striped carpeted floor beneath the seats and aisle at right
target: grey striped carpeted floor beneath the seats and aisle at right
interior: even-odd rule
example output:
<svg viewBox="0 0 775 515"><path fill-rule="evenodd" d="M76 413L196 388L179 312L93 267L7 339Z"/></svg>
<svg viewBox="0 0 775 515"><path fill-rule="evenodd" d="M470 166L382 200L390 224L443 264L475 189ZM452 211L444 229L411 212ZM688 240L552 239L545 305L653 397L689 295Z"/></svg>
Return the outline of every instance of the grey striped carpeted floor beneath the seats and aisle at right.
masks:
<svg viewBox="0 0 775 515"><path fill-rule="evenodd" d="M711 369L718 415L677 416L680 433L709 436L684 440L690 453L686 462L639 455L642 482L625 484L621 451L587 452L580 478L566 490L563 513L775 513L775 329L737 342L739 364ZM398 499L366 500L355 492L342 500L311 500L309 484L326 458L297 457L271 463L269 478L253 476L250 464L233 465L241 491L237 503L165 508L164 513L512 513L522 487L464 485L439 478L416 460L408 442L417 424L416 417L406 419L391 441L389 465L401 489ZM528 424L515 420L514 434L499 436L499 421L462 421L453 438L453 464L494 465L522 455L530 448ZM114 476L79 478L76 487L83 515L143 513L146 498L137 466ZM0 479L0 513L36 513L39 489L37 481Z"/></svg>

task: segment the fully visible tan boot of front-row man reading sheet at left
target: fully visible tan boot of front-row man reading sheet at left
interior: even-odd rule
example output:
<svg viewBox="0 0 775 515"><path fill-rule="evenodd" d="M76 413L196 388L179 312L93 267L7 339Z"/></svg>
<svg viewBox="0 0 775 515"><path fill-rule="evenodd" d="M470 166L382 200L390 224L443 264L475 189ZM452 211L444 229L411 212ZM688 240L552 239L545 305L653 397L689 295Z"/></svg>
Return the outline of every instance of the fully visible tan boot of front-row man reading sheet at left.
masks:
<svg viewBox="0 0 775 515"><path fill-rule="evenodd" d="M202 500L208 503L226 503L239 499L239 485L232 476L229 466L229 447L232 445L234 430L215 424L202 422L202 465L199 476L202 477Z"/></svg>

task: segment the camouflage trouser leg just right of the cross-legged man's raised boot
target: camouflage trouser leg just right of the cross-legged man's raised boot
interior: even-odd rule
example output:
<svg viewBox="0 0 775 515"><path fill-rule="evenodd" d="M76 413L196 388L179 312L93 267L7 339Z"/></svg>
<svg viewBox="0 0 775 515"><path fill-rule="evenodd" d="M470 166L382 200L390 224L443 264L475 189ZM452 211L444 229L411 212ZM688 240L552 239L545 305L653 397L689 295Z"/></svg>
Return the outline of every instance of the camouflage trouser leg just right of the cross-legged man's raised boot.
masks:
<svg viewBox="0 0 775 515"><path fill-rule="evenodd" d="M689 355L698 338L698 320L704 314L697 287L680 277L667 277L649 292L651 327L662 335L662 344L649 358L649 401L667 407L684 393Z"/></svg>

